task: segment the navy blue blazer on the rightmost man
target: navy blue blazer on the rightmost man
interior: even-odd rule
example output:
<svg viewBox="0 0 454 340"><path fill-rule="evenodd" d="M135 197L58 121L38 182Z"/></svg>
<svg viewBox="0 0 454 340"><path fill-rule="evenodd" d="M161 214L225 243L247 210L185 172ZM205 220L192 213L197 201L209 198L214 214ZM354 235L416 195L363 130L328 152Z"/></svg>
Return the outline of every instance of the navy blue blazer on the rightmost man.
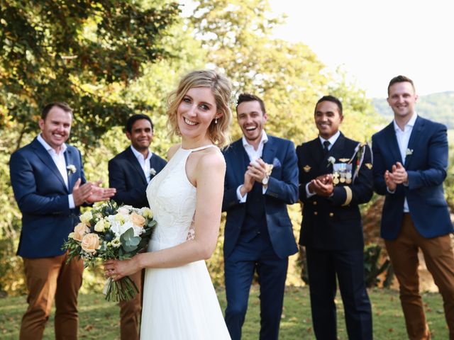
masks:
<svg viewBox="0 0 454 340"><path fill-rule="evenodd" d="M443 124L418 116L411 130L405 163L397 144L394 123L372 136L374 154L374 188L384 195L381 236L395 239L402 226L404 198L409 204L411 220L426 238L453 232L443 181L448 169L448 137ZM396 162L404 164L409 185L399 184L394 193L387 191L384 171Z"/></svg>

